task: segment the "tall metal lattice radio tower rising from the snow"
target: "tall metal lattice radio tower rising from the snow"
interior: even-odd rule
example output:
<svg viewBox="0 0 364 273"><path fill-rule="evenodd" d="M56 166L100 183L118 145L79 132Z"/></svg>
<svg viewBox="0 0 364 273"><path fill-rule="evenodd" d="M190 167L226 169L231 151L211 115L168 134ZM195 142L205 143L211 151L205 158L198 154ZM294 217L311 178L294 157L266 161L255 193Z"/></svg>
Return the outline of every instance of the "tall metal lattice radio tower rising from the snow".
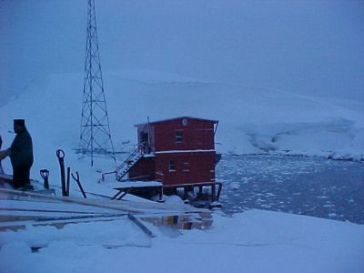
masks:
<svg viewBox="0 0 364 273"><path fill-rule="evenodd" d="M84 96L81 114L80 157L106 154L115 160L108 122L96 31L95 1L88 0Z"/></svg>

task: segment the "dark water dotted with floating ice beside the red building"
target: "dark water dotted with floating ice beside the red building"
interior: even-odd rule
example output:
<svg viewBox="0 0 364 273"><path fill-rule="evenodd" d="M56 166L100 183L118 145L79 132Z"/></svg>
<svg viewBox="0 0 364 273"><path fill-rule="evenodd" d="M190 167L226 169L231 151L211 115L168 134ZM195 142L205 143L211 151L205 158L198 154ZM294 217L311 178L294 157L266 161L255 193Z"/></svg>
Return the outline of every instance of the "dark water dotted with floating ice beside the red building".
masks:
<svg viewBox="0 0 364 273"><path fill-rule="evenodd" d="M364 164L319 157L224 156L217 165L227 214L250 208L364 224Z"/></svg>

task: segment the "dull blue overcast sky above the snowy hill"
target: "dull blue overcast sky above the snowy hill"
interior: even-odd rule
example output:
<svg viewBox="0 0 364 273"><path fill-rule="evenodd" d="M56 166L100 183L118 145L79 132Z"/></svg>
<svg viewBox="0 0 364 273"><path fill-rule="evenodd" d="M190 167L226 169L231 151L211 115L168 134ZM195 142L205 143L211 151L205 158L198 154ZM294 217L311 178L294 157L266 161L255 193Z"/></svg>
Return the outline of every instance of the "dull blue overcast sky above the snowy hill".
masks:
<svg viewBox="0 0 364 273"><path fill-rule="evenodd" d="M0 98L83 73L87 1L0 1ZM96 0L101 65L364 101L363 1ZM82 92L82 90L80 90Z"/></svg>

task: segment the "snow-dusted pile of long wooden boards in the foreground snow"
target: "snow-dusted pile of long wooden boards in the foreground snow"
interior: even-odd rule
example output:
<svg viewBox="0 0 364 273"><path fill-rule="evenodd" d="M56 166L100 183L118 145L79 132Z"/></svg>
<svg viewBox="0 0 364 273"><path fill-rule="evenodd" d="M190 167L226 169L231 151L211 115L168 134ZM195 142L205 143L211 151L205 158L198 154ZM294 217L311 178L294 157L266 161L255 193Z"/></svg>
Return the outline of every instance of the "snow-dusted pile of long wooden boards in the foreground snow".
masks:
<svg viewBox="0 0 364 273"><path fill-rule="evenodd" d="M129 218L151 237L143 221L178 229L204 229L212 225L210 210L185 204L55 197L0 188L0 231L27 225L62 228L70 223L113 221L120 217Z"/></svg>

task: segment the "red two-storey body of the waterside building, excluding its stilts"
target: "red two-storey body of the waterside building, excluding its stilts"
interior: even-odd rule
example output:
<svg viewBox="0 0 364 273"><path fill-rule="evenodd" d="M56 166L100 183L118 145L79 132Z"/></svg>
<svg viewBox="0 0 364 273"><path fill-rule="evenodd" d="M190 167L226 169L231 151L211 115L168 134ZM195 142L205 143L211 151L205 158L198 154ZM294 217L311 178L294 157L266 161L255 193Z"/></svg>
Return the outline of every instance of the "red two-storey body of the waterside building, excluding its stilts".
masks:
<svg viewBox="0 0 364 273"><path fill-rule="evenodd" d="M129 179L157 180L164 187L215 183L217 124L182 116L136 125L140 154L129 158L124 172Z"/></svg>

